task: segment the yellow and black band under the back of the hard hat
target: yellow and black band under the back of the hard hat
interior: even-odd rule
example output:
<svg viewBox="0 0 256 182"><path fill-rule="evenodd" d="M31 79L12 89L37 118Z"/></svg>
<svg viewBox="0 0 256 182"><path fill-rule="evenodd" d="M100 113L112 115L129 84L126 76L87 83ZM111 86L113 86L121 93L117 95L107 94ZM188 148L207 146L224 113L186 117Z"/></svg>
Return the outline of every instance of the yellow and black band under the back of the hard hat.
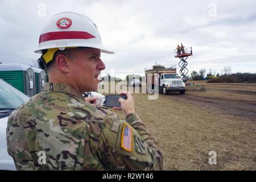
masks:
<svg viewBox="0 0 256 182"><path fill-rule="evenodd" d="M66 48L77 48L77 47L66 47ZM65 48L51 48L51 49L43 50L42 51L43 55L38 59L38 64L40 68L45 70L46 65L49 63L49 61L53 59L54 54L59 49L63 51Z"/></svg>

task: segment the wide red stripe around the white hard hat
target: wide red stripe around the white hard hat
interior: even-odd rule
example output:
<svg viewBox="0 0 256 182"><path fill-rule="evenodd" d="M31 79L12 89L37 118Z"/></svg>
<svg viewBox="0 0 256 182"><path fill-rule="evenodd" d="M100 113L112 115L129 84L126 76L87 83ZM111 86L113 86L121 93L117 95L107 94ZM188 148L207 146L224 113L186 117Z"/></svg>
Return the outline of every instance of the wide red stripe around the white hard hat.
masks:
<svg viewBox="0 0 256 182"><path fill-rule="evenodd" d="M61 39L92 39L96 38L88 32L81 31L65 31L65 32L48 32L40 35L39 44L49 40L61 40Z"/></svg>

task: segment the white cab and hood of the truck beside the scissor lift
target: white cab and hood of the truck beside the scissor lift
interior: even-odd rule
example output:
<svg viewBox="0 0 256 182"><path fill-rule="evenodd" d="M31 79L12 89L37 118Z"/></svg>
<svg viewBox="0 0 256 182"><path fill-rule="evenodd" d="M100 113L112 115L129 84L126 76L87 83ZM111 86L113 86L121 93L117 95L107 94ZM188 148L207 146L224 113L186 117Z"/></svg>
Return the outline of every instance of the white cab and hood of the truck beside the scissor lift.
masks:
<svg viewBox="0 0 256 182"><path fill-rule="evenodd" d="M185 83L177 73L160 73L159 87L163 94L168 92L185 93Z"/></svg>

